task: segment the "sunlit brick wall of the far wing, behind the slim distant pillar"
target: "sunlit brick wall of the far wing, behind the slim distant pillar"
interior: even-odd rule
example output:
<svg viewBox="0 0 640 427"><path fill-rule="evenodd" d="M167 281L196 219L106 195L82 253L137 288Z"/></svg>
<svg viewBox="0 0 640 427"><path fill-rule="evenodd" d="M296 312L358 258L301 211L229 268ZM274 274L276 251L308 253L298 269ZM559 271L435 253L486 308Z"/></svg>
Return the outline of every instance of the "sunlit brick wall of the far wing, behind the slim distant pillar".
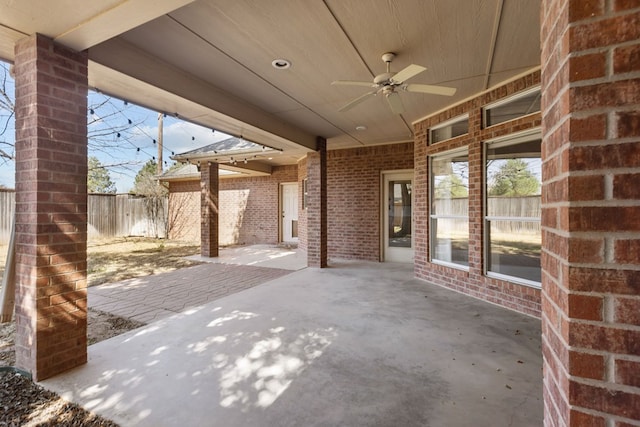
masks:
<svg viewBox="0 0 640 427"><path fill-rule="evenodd" d="M218 199L220 211L219 244L275 244L279 241L280 184L298 181L298 167L277 166L271 176L221 178ZM169 184L170 218L175 219L172 239L200 239L199 181L173 181ZM299 203L302 203L299 201ZM181 207L176 209L177 204Z"/></svg>

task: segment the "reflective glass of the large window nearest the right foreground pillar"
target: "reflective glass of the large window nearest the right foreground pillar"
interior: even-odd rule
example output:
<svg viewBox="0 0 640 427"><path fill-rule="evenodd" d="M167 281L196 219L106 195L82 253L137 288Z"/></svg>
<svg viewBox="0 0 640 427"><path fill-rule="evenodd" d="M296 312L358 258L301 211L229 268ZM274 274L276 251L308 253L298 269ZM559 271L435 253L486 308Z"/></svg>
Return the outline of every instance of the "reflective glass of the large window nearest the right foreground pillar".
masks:
<svg viewBox="0 0 640 427"><path fill-rule="evenodd" d="M487 273L539 286L540 139L493 143L486 151Z"/></svg>

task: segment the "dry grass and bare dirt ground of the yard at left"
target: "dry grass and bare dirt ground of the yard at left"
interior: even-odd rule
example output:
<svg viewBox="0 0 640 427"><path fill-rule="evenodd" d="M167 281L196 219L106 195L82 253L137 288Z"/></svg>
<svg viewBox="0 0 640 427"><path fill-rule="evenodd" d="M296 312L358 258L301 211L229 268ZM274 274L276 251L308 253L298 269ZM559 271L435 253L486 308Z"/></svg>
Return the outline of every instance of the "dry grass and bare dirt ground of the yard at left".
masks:
<svg viewBox="0 0 640 427"><path fill-rule="evenodd" d="M148 276L198 264L185 260L200 247L193 243L147 238L117 238L89 242L87 247L88 285L117 282ZM7 247L0 246L0 279L4 273ZM89 345L114 337L143 323L99 310L88 310ZM3 367L13 366L15 325L0 324L0 426L93 426L113 427L109 420L97 417L70 404L55 393Z"/></svg>

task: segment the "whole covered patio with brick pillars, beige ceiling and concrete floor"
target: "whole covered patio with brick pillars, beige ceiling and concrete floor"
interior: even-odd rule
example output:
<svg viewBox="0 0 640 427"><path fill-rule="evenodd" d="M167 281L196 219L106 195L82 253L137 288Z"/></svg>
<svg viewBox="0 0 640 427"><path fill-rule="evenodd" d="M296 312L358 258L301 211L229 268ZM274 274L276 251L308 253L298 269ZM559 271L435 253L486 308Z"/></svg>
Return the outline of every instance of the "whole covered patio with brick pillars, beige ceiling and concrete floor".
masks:
<svg viewBox="0 0 640 427"><path fill-rule="evenodd" d="M637 0L4 6L0 57L16 75L16 364L36 380L76 369L48 384L127 424L189 424L202 416L194 403L215 412L199 422L223 424L526 425L517 418L536 399L547 427L640 425ZM264 188L240 189L264 196L256 211L270 215L254 215L252 233L284 241L278 191L293 184L290 225L307 265L352 261L87 352L89 88L280 152L241 161L271 171ZM533 213L489 209L490 163L512 159L535 161ZM217 257L228 166L195 164L201 254ZM461 198L462 213L440 212L442 182L442 200ZM396 201L403 215L411 206L410 230L390 221ZM463 225L440 233L447 222ZM494 226L505 222L535 224L534 238L510 231L515 244L502 245ZM392 247L399 231L410 248ZM413 268L369 263L395 249ZM523 368L535 390L516 380L532 373L516 375Z"/></svg>

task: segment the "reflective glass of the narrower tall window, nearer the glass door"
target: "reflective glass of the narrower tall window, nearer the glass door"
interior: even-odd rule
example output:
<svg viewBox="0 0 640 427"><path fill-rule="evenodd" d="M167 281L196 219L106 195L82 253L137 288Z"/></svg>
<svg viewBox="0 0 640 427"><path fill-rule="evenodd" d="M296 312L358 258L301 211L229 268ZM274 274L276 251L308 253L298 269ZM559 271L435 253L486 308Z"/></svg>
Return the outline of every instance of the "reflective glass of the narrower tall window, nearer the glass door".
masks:
<svg viewBox="0 0 640 427"><path fill-rule="evenodd" d="M431 158L431 260L469 265L469 156Z"/></svg>

